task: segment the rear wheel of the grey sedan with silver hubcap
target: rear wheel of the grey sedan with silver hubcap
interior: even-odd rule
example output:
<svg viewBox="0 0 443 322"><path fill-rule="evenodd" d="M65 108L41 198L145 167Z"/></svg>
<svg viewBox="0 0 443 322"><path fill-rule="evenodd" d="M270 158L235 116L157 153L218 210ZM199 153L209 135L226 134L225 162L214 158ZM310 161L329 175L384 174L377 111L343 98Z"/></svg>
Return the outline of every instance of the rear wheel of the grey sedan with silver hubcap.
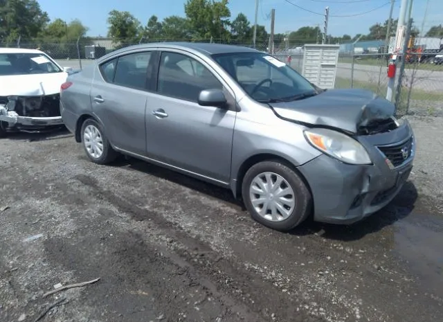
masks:
<svg viewBox="0 0 443 322"><path fill-rule="evenodd" d="M93 163L108 164L117 158L118 153L109 144L100 123L93 118L84 121L80 134L84 152ZM95 139L91 141L92 137ZM102 147L101 153L99 153L100 147Z"/></svg>

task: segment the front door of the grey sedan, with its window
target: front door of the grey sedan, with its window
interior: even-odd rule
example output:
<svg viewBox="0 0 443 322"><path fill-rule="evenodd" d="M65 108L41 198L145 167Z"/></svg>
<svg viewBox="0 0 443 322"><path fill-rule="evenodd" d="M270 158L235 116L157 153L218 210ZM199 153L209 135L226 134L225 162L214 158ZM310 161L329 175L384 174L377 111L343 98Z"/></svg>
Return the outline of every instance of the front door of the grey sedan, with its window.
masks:
<svg viewBox="0 0 443 322"><path fill-rule="evenodd" d="M223 89L204 64L179 51L161 53L157 93L147 98L147 155L228 183L236 112L197 103L201 90Z"/></svg>

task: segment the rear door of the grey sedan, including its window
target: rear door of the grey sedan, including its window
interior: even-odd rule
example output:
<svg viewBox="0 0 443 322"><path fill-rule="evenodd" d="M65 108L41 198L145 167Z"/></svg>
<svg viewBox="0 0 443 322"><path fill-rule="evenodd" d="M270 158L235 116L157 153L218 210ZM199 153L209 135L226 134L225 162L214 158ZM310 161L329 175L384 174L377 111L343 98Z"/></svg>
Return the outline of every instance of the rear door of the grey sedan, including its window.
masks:
<svg viewBox="0 0 443 322"><path fill-rule="evenodd" d="M100 64L91 88L94 114L116 147L145 155L145 109L152 89L154 51L132 51Z"/></svg>

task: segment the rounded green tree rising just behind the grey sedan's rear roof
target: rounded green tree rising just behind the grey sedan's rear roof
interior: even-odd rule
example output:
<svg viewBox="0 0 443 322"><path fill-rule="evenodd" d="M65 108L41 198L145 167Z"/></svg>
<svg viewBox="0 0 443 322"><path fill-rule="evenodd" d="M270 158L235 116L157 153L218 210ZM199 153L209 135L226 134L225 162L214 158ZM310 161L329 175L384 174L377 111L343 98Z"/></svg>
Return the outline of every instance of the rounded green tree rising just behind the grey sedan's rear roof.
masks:
<svg viewBox="0 0 443 322"><path fill-rule="evenodd" d="M127 11L112 10L107 19L108 37L114 44L131 44L140 35L141 24Z"/></svg>

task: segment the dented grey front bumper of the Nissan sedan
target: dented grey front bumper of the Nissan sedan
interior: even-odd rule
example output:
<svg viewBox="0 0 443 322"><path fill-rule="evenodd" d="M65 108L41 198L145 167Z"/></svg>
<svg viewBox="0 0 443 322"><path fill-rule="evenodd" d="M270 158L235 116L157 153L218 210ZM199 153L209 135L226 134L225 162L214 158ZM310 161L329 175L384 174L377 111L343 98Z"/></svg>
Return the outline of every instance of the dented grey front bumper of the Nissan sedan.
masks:
<svg viewBox="0 0 443 322"><path fill-rule="evenodd" d="M314 220L352 224L381 210L408 180L414 156L415 144L410 157L397 168L390 168L381 153L372 158L372 165L345 164L322 154L300 166L314 199Z"/></svg>

